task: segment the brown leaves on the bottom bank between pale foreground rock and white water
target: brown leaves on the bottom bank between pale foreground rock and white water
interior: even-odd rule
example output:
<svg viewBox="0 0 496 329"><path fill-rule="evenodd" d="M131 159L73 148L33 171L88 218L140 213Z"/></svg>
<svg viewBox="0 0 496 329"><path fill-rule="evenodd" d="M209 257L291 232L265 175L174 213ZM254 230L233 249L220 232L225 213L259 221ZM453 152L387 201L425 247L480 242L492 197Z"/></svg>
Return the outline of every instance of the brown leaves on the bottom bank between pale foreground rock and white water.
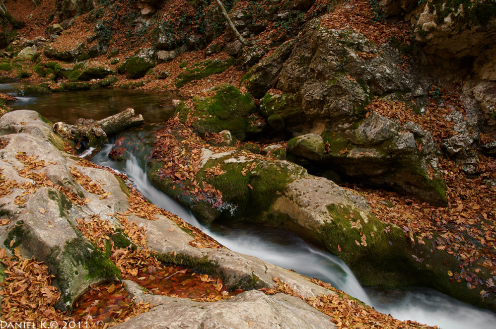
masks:
<svg viewBox="0 0 496 329"><path fill-rule="evenodd" d="M273 295L282 292L286 295L297 297L297 293L291 289L287 284L282 282L279 278L273 277L276 286L272 288L260 289L268 295ZM317 297L299 296L308 305L327 314L332 318L332 322L337 328L353 328L353 329L374 329L374 328L388 328L388 329L414 329L414 328L437 328L429 327L427 325L419 324L415 321L400 321L394 319L390 315L385 315L377 312L375 309L358 302L347 293L337 290L332 287L330 283L322 282L316 278L309 279L310 281L334 291L334 294L324 295L320 294Z"/></svg>

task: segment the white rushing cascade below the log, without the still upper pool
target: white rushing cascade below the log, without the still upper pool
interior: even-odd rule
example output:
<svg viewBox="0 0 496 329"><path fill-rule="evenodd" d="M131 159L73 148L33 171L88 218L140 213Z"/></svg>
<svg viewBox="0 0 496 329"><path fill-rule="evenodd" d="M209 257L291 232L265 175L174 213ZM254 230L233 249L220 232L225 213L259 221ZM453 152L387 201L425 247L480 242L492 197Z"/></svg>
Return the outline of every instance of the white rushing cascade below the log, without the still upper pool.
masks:
<svg viewBox="0 0 496 329"><path fill-rule="evenodd" d="M330 282L337 289L399 320L415 320L441 329L494 328L496 315L491 311L476 308L432 289L364 289L351 269L337 256L309 245L290 232L243 224L235 227L215 223L211 227L202 225L189 210L150 183L143 168L151 148L143 147L146 141L142 140L149 134L132 134L131 140L138 144L128 144L126 148L133 152L139 146L138 156L130 154L127 161L112 161L108 157L112 148L112 143L109 143L92 161L127 174L148 200L201 228L227 248Z"/></svg>

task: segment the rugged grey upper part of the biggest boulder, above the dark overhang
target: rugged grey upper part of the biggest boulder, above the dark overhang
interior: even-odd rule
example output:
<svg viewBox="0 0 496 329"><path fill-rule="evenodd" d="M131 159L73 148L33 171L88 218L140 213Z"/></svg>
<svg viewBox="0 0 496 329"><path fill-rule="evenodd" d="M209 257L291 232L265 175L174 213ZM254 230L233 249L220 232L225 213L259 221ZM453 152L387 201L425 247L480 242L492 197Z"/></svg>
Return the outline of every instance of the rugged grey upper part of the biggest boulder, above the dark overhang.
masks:
<svg viewBox="0 0 496 329"><path fill-rule="evenodd" d="M313 19L295 41L283 44L251 69L247 87L257 98L273 85L293 94L302 120L288 128L301 131L319 122L356 116L373 96L425 97L428 81L404 71L401 64L402 58L390 46L376 46L357 32L329 29Z"/></svg>

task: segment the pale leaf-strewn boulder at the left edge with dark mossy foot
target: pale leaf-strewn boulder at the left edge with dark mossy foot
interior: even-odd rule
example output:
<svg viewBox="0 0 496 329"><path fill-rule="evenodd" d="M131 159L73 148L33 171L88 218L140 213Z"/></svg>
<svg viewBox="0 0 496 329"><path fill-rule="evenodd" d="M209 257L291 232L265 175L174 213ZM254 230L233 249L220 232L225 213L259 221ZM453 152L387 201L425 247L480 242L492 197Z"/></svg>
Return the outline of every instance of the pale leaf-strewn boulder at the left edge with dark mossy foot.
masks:
<svg viewBox="0 0 496 329"><path fill-rule="evenodd" d="M36 112L24 110L0 119L6 144L0 149L2 180L13 184L1 194L1 210L10 223L0 227L0 240L9 252L19 248L23 257L48 265L62 294L57 306L65 309L90 284L120 277L116 265L75 229L75 219L96 209L126 211L125 203L118 201L125 195L114 175L78 167L61 152L64 141L44 121ZM100 196L76 183L69 166L109 183L107 192L114 197L99 202ZM92 202L82 206L81 197Z"/></svg>

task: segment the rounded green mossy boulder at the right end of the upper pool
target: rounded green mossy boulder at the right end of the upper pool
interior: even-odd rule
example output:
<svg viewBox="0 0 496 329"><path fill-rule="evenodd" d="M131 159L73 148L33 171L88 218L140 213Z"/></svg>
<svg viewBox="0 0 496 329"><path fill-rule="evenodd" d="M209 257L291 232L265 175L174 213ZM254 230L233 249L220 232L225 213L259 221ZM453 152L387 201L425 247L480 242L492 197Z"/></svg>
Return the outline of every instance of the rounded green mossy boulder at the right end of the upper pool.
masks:
<svg viewBox="0 0 496 329"><path fill-rule="evenodd" d="M252 126L249 116L257 111L255 102L248 93L242 94L230 84L214 90L213 97L193 97L194 112L189 109L189 115L197 117L193 128L201 135L228 130L234 138L243 140ZM176 110L182 117L187 112L184 107Z"/></svg>

